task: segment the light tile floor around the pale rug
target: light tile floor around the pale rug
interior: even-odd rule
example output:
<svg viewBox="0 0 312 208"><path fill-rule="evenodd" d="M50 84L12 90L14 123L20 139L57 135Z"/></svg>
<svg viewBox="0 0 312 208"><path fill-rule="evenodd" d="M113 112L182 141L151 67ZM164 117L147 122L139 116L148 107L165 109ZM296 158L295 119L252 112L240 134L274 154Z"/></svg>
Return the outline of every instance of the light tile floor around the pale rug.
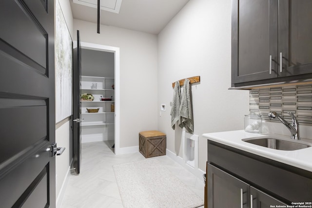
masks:
<svg viewBox="0 0 312 208"><path fill-rule="evenodd" d="M82 144L80 174L71 175L61 208L123 208L112 166L146 160L139 152L115 155L114 141ZM148 158L151 159L151 158ZM204 199L204 182L170 157L153 157ZM203 208L203 206L201 207Z"/></svg>

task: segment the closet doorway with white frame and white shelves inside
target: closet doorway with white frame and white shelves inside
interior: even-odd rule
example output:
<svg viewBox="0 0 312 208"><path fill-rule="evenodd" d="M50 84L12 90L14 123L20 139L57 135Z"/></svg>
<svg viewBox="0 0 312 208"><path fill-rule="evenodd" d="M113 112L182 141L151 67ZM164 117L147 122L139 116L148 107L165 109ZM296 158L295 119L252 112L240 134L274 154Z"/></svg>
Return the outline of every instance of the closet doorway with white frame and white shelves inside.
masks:
<svg viewBox="0 0 312 208"><path fill-rule="evenodd" d="M94 99L81 102L81 143L103 141L118 154L119 48L87 42L80 45L81 94L91 94Z"/></svg>

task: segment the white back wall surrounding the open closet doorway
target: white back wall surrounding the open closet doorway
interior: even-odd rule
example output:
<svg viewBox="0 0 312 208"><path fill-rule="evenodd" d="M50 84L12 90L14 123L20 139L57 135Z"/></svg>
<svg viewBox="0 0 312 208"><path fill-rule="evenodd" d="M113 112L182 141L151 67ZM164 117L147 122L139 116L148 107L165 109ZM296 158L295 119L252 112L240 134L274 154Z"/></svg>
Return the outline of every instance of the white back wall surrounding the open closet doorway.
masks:
<svg viewBox="0 0 312 208"><path fill-rule="evenodd" d="M97 34L95 23L74 19L76 30L82 42L120 48L120 148L138 146L139 132L157 129L156 35L105 25Z"/></svg>

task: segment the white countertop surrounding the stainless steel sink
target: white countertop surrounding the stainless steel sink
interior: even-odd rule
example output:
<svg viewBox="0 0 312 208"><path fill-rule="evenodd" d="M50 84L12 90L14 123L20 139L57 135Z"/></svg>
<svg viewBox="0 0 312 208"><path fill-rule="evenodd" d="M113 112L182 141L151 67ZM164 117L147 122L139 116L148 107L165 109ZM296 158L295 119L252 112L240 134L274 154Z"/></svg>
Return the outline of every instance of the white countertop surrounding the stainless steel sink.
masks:
<svg viewBox="0 0 312 208"><path fill-rule="evenodd" d="M294 151L283 151L274 150L259 145L251 144L242 141L245 138L259 137L259 136L273 136L274 138L281 138L288 141L293 141L290 136L283 136L278 134L260 134L260 133L249 133L244 130L229 131L229 132L215 132L215 133L204 133L204 137L209 140L234 147L239 150L248 151L250 153L263 156L281 163L285 163L300 169L312 171L312 147L294 150ZM312 142L311 140L301 139L304 142Z"/></svg>

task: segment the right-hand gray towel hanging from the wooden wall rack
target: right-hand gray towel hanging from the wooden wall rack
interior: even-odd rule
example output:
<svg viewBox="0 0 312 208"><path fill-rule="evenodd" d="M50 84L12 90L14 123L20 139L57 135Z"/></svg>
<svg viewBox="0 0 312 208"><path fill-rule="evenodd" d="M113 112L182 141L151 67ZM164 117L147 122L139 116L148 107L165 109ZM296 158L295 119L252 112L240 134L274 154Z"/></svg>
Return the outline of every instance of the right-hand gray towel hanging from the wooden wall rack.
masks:
<svg viewBox="0 0 312 208"><path fill-rule="evenodd" d="M185 79L180 104L179 127L185 128L189 133L194 133L192 101L190 94L190 80Z"/></svg>

